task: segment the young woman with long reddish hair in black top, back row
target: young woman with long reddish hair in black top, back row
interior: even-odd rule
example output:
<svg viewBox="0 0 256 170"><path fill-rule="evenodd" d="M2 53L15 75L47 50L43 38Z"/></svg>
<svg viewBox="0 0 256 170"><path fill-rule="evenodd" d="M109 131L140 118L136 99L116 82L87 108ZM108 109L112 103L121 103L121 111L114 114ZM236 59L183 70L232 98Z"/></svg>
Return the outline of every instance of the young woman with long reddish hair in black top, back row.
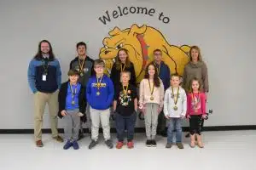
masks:
<svg viewBox="0 0 256 170"><path fill-rule="evenodd" d="M128 51L125 48L120 48L115 63L112 66L110 78L113 82L114 89L120 85L120 73L122 71L131 72L130 84L136 86L136 75L134 66L131 63Z"/></svg>

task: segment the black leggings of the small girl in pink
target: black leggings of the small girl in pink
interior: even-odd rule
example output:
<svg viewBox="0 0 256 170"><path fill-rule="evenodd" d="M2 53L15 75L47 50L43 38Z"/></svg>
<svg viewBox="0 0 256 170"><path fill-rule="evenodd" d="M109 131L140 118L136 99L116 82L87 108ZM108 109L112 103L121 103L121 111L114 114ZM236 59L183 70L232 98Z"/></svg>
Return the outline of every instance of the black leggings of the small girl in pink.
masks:
<svg viewBox="0 0 256 170"><path fill-rule="evenodd" d="M201 115L191 115L189 119L189 133L201 135L204 120Z"/></svg>

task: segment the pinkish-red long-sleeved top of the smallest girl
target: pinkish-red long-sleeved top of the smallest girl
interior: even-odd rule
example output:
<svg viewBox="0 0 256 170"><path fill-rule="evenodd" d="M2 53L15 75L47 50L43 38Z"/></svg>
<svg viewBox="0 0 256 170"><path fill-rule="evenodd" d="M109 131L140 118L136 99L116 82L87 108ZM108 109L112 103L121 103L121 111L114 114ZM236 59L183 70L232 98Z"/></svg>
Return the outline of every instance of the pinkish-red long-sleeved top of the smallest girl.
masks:
<svg viewBox="0 0 256 170"><path fill-rule="evenodd" d="M206 114L206 100L205 93L189 93L187 95L187 116L189 115L205 115Z"/></svg>

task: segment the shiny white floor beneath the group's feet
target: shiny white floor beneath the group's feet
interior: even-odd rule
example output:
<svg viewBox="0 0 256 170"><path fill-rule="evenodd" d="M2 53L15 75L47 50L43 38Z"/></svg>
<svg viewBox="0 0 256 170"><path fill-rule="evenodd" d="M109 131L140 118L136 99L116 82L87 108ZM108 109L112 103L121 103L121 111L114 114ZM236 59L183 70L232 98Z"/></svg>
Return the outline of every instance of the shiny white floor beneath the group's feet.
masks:
<svg viewBox="0 0 256 170"><path fill-rule="evenodd" d="M204 149L191 149L189 139L185 138L184 150L178 150L175 145L166 149L166 138L162 137L157 138L156 148L145 146L144 133L136 133L135 138L132 150L126 146L109 150L102 139L95 149L88 150L88 136L79 141L80 150L63 150L63 144L52 140L49 134L43 136L43 148L35 146L32 134L1 134L0 169L256 170L255 130L204 132Z"/></svg>

